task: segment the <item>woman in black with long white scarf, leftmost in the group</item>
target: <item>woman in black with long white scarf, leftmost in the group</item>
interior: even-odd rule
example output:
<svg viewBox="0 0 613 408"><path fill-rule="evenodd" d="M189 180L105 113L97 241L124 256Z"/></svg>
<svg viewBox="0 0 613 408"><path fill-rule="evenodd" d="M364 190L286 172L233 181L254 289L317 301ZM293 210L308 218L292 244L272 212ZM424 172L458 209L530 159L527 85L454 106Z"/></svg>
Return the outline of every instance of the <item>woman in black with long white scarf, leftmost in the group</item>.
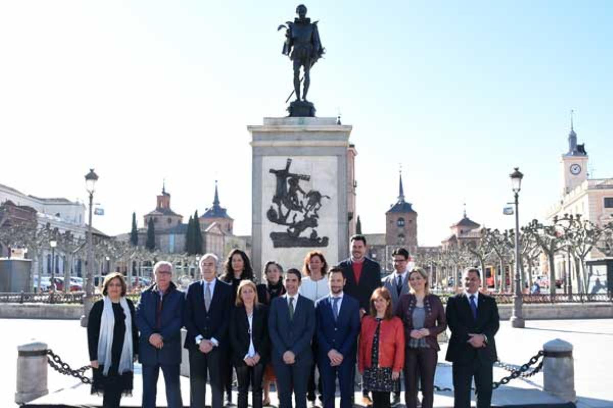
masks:
<svg viewBox="0 0 613 408"><path fill-rule="evenodd" d="M94 303L87 326L89 360L94 377L91 393L102 394L102 407L120 407L121 396L131 395L138 331L134 305L126 298L121 273L109 273L102 283L104 297Z"/></svg>

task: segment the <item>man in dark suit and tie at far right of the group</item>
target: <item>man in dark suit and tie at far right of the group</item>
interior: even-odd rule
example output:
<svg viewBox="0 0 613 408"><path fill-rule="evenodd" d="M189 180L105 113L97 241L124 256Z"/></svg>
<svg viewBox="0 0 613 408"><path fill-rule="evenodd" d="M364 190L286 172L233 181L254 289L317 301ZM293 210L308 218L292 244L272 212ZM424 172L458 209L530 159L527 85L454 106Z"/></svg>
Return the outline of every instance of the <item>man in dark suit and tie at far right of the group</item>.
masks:
<svg viewBox="0 0 613 408"><path fill-rule="evenodd" d="M498 306L493 297L479 293L481 275L468 269L463 276L464 292L447 300L447 324L451 339L447 361L453 363L454 407L470 407L474 377L478 408L492 404L493 363L498 359L494 336L500 327Z"/></svg>

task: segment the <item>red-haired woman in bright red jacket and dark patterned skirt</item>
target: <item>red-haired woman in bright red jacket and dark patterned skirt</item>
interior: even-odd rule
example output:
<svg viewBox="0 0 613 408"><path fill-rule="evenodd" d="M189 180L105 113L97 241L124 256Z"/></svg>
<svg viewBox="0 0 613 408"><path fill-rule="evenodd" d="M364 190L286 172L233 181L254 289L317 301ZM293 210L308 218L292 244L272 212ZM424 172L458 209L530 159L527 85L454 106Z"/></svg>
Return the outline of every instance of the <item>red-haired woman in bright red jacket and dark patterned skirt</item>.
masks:
<svg viewBox="0 0 613 408"><path fill-rule="evenodd" d="M405 363L402 321L392 314L392 297L385 287L370 297L370 314L362 319L358 368L364 387L373 393L373 408L389 408L389 393L400 387Z"/></svg>

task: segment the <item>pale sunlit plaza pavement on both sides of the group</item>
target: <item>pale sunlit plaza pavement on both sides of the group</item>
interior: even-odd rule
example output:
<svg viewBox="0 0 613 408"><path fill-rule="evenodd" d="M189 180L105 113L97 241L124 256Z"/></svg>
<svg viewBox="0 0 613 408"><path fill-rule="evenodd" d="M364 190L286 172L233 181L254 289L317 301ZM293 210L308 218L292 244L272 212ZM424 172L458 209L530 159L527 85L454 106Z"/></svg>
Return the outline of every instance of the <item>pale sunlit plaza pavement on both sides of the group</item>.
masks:
<svg viewBox="0 0 613 408"><path fill-rule="evenodd" d="M85 329L78 321L58 320L26 320L1 319L0 325L10 336L1 336L0 347L2 359L7 362L7 368L2 371L2 392L0 393L0 406L14 407L15 393L15 361L17 360L18 344L29 343L32 339L48 344L63 360L73 368L88 363ZM509 322L501 322L500 332L496 336L498 355L501 362L511 365L522 365L536 354L543 344L551 339L563 339L574 346L575 389L577 393L577 407L613 407L613 388L609 367L613 365L613 319L584 319L584 320L548 320L527 321L524 329L511 328ZM446 344L441 344L439 365L437 368L435 384L441 388L451 388L451 366L444 362ZM137 374L140 366L136 368ZM494 369L494 380L505 376L503 369ZM140 376L135 377L135 390L132 398L124 399L122 406L139 406L140 403ZM183 395L188 398L189 381L182 377L181 387ZM55 371L48 371L48 388L50 395L42 401L58 401L68 398L69 401L83 404L101 403L101 398L89 396L89 387L80 384L72 377L61 376ZM543 388L543 374L539 373L530 379L515 379L508 385L502 385L494 391L493 404L516 405L534 404L536 402L552 403L539 392ZM56 394L55 391L64 390ZM210 395L210 394L209 394ZM276 404L276 395L273 393L273 404ZM76 400L75 400L76 399ZM337 398L338 399L338 398ZM189 399L184 399L189 401ZM159 406L166 406L163 391L163 380L160 377L158 385ZM337 402L338 403L338 402ZM449 391L436 392L436 407L451 407L452 395Z"/></svg>

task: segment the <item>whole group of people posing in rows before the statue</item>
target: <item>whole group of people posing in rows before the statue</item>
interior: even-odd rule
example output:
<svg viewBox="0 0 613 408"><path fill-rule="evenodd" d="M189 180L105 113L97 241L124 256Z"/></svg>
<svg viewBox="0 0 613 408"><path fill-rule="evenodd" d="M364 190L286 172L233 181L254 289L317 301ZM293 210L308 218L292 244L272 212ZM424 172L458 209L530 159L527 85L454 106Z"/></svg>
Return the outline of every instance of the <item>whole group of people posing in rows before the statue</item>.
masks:
<svg viewBox="0 0 613 408"><path fill-rule="evenodd" d="M238 384L238 408L270 404L276 382L280 408L353 405L357 372L362 403L389 407L433 406L437 336L451 329L447 360L453 362L455 407L470 407L474 377L478 407L489 407L492 366L497 360L494 336L498 310L492 297L479 293L479 270L464 273L464 292L447 300L429 292L428 274L408 270L409 253L392 254L394 272L382 281L379 264L367 258L364 236L351 237L351 257L329 267L320 251L305 257L302 271L285 272L277 262L264 267L265 283L253 281L248 256L232 250L218 276L215 254L200 258L201 280L185 293L172 283L172 265L154 265L155 283L139 305L125 297L119 273L107 275L103 299L91 310L89 355L94 369L92 392L102 393L104 407L120 406L132 390L132 364L142 364L143 407L155 407L162 369L170 408L183 407L180 391L181 328L189 355L190 406L205 406L207 380L211 407L232 404L232 377ZM140 332L140 336L139 336ZM315 381L315 369L319 382ZM225 404L224 404L225 393ZM319 394L319 395L318 395Z"/></svg>

